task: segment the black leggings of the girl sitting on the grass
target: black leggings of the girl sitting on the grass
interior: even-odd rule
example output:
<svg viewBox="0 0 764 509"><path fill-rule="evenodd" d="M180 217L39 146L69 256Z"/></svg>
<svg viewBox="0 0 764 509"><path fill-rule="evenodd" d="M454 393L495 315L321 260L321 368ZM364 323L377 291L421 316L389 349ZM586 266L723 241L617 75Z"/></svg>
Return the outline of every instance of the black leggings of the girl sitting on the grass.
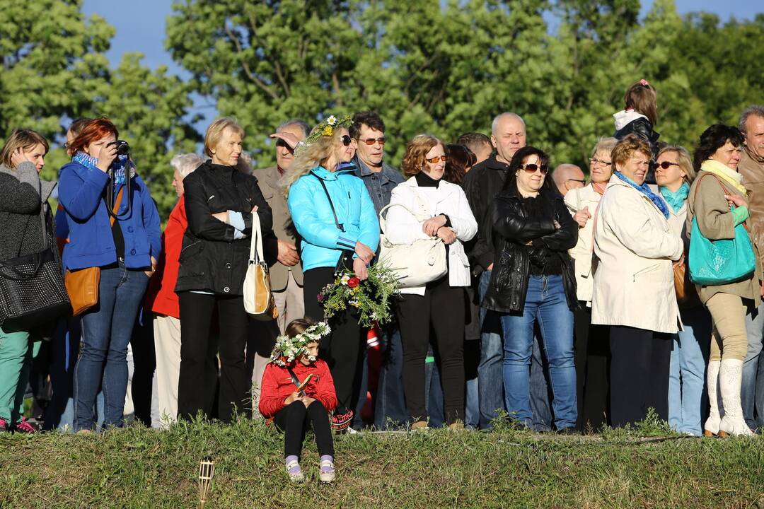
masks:
<svg viewBox="0 0 764 509"><path fill-rule="evenodd" d="M310 423L308 422L310 421ZM308 424L316 435L319 456L334 456L332 430L329 427L329 413L321 401L313 401L308 408L302 401L293 401L282 408L274 417L274 424L284 433L284 457L300 456Z"/></svg>

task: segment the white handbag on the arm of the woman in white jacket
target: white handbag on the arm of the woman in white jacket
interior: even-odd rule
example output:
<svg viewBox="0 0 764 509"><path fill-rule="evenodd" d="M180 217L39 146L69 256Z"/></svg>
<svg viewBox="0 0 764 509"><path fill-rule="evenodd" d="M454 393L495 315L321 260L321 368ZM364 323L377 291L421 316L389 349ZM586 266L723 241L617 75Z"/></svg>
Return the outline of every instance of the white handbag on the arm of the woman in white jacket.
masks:
<svg viewBox="0 0 764 509"><path fill-rule="evenodd" d="M379 263L396 272L401 288L426 285L442 278L448 272L445 261L445 244L440 237L414 240L410 244L393 244L385 235L386 222L382 214L391 207L402 207L409 214L419 217L405 205L397 203L387 205L380 210L380 256Z"/></svg>

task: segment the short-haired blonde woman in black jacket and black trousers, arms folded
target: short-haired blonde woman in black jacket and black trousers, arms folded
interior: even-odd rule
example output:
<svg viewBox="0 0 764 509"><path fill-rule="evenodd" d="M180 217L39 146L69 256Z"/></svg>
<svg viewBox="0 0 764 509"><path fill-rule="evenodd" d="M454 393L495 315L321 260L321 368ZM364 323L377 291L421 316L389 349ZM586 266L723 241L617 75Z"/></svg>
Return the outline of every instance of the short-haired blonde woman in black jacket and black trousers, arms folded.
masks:
<svg viewBox="0 0 764 509"><path fill-rule="evenodd" d="M262 234L271 233L271 214L257 179L239 172L244 130L230 118L207 129L204 149L211 157L183 180L188 228L180 251L175 291L180 301L180 379L178 417L199 411L212 415L218 380L218 417L228 423L251 410L244 368L248 315L242 296L249 259L252 214ZM269 253L270 255L275 253ZM210 336L217 309L219 340Z"/></svg>

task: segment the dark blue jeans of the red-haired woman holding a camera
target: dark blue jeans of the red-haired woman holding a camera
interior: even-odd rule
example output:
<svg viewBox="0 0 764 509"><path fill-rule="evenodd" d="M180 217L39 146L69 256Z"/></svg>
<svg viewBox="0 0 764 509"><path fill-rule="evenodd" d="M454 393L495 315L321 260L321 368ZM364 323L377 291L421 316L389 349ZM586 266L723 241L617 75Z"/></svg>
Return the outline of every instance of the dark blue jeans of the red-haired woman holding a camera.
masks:
<svg viewBox="0 0 764 509"><path fill-rule="evenodd" d="M148 276L118 266L101 269L99 303L83 314L83 346L74 368L74 430L93 424L95 395L104 394L104 427L121 427L128 388L128 343Z"/></svg>

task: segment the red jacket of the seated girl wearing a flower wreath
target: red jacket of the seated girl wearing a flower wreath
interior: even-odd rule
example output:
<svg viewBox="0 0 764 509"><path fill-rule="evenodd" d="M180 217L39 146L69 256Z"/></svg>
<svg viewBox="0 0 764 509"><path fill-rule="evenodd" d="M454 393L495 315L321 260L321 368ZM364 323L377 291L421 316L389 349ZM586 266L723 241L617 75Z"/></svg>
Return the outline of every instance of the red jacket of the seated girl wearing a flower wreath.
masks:
<svg viewBox="0 0 764 509"><path fill-rule="evenodd" d="M334 380L329 366L322 359L316 359L309 366L302 362L293 362L292 371L300 382L309 374L313 375L305 388L305 394L314 398L324 405L327 411L332 411L337 406L337 395L334 390ZM266 419L275 417L278 411L284 408L284 400L289 397L297 386L292 382L292 377L286 368L269 363L263 373L263 381L260 385L260 413Z"/></svg>

